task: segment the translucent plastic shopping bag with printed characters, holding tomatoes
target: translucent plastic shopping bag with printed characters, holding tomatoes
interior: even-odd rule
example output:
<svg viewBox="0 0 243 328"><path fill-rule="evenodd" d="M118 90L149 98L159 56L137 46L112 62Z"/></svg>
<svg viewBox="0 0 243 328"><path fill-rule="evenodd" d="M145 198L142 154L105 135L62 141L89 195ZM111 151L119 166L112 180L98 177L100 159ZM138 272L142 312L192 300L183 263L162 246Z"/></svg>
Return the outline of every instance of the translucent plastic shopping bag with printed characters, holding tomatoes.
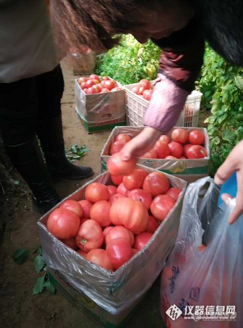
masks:
<svg viewBox="0 0 243 328"><path fill-rule="evenodd" d="M209 177L186 190L175 246L161 273L167 328L243 325L243 215L229 225L234 200L218 207L219 192Z"/></svg>

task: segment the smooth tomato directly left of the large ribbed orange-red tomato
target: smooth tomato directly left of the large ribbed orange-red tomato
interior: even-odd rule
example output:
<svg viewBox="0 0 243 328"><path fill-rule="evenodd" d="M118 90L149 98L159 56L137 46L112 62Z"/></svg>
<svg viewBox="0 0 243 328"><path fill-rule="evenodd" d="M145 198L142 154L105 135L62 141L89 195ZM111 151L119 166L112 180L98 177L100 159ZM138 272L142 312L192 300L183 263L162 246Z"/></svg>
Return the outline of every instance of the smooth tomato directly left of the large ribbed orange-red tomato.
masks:
<svg viewBox="0 0 243 328"><path fill-rule="evenodd" d="M90 219L95 220L101 227L110 225L110 212L111 203L107 200L99 200L94 203L90 209Z"/></svg>

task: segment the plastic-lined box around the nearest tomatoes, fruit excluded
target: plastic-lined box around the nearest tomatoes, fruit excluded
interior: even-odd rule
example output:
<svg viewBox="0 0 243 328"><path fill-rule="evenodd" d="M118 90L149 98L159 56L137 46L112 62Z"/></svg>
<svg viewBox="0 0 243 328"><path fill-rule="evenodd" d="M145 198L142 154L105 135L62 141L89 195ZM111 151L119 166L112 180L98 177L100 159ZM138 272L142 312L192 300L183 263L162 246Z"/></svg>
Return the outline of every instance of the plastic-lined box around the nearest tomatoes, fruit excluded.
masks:
<svg viewBox="0 0 243 328"><path fill-rule="evenodd" d="M157 172L156 169L142 165L137 165L137 168L142 168L147 173ZM42 255L50 274L56 280L55 285L59 286L58 288L74 303L80 302L79 307L81 310L88 311L93 319L94 317L97 318L93 309L80 299L77 301L77 297L74 297L75 300L70 297L70 289L77 290L80 295L85 295L86 298L92 300L97 307L103 309L107 316L111 314L113 321L118 317L124 319L123 314L125 313L125 316L129 315L129 312L150 289L164 267L166 258L174 247L183 196L187 186L186 181L172 175L165 175L171 186L182 190L178 200L147 244L113 272L91 263L54 237L47 228L49 215L63 201L85 199L85 191L92 182L100 182L105 185L113 184L107 171L87 182L38 220L37 226L42 245ZM62 284L60 281L64 281L64 283ZM103 319L100 317L98 320L102 321ZM108 326L106 323L102 327L116 326Z"/></svg>

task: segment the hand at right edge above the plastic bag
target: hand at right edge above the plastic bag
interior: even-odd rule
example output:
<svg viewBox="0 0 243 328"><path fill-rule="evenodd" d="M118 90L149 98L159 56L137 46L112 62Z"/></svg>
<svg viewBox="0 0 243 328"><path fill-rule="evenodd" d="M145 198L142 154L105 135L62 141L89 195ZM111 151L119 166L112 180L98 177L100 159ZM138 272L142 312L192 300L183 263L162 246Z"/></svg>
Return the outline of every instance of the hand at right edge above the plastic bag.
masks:
<svg viewBox="0 0 243 328"><path fill-rule="evenodd" d="M218 168L214 176L214 182L222 184L233 171L236 171L237 194L236 206L228 217L229 224L233 223L243 213L243 140L231 150L225 162ZM227 203L227 199L232 197L229 194L222 194L221 198Z"/></svg>

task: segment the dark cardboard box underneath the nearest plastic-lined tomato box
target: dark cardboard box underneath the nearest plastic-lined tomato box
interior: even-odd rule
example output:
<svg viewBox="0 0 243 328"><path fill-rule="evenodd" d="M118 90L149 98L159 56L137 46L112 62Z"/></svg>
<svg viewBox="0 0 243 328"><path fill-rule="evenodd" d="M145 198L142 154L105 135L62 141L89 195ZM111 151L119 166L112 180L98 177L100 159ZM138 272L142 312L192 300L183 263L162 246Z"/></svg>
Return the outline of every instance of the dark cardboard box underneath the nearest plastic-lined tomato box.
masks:
<svg viewBox="0 0 243 328"><path fill-rule="evenodd" d="M48 269L48 275L50 281L59 292L67 297L79 310L87 314L98 326L104 328L125 327L145 297L145 295L140 296L128 309L113 315L96 304L84 292L73 287L67 278L57 270Z"/></svg>

